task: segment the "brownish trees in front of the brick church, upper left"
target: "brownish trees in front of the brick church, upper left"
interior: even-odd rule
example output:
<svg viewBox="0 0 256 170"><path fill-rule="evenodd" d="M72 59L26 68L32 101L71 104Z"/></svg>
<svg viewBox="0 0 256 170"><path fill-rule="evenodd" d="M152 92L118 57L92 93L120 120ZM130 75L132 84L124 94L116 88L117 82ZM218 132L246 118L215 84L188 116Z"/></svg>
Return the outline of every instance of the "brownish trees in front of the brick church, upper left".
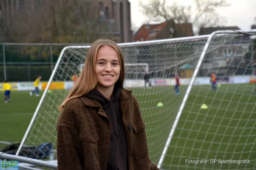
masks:
<svg viewBox="0 0 256 170"><path fill-rule="evenodd" d="M26 9L26 10L25 10ZM92 1L44 0L43 4L25 4L15 12L8 27L13 42L92 43L111 38L113 26Z"/></svg>

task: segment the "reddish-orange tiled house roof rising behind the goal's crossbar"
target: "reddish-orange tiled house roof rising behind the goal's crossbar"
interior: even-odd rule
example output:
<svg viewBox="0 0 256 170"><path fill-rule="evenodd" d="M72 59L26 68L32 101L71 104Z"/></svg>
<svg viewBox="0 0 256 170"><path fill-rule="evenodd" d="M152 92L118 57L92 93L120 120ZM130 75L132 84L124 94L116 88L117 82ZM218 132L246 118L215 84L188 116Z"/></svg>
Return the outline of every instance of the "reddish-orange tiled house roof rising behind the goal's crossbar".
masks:
<svg viewBox="0 0 256 170"><path fill-rule="evenodd" d="M162 31L162 29L166 26L167 21L159 23L159 24L143 24L140 29L134 34L134 41L145 41L145 40L152 40L157 37L157 35ZM180 27L187 36L193 36L193 29L192 29L192 24L191 23L182 23L182 24L176 24L176 26ZM150 32L152 30L158 30L157 33L152 36L148 37L150 35Z"/></svg>

